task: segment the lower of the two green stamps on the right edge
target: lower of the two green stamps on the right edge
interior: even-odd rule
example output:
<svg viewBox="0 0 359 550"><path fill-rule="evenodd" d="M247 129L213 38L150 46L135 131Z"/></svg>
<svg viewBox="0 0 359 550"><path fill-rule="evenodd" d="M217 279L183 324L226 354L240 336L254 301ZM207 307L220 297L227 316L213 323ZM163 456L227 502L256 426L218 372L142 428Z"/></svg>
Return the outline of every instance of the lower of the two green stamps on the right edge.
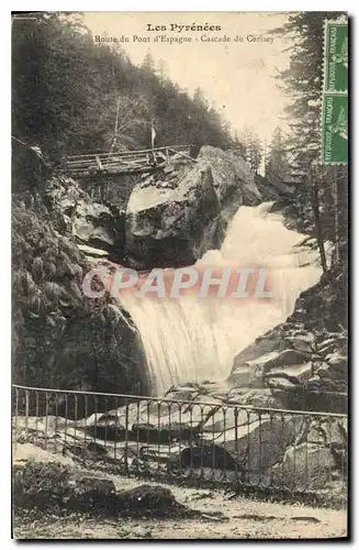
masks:
<svg viewBox="0 0 359 550"><path fill-rule="evenodd" d="M324 94L322 117L322 162L348 162L348 96Z"/></svg>

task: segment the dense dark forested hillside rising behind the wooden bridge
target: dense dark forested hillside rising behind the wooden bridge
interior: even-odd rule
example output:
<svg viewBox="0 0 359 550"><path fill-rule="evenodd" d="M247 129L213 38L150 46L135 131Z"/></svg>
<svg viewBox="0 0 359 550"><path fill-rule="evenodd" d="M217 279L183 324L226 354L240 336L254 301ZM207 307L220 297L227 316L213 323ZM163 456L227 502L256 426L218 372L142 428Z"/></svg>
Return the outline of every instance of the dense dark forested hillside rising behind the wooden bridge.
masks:
<svg viewBox="0 0 359 550"><path fill-rule="evenodd" d="M166 77L147 53L137 67L120 47L96 44L79 16L37 13L12 29L13 134L54 158L111 147L146 148L150 119L156 145L226 148L231 132L209 108Z"/></svg>

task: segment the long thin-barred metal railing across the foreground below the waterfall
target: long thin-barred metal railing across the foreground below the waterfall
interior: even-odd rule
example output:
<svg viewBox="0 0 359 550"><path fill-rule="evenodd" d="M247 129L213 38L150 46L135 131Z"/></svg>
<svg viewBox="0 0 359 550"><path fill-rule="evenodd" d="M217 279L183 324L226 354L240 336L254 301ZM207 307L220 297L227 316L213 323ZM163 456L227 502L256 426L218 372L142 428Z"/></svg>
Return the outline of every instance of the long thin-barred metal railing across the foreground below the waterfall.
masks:
<svg viewBox="0 0 359 550"><path fill-rule="evenodd" d="M31 442L105 471L291 493L345 494L347 417L217 399L14 385L15 447Z"/></svg>

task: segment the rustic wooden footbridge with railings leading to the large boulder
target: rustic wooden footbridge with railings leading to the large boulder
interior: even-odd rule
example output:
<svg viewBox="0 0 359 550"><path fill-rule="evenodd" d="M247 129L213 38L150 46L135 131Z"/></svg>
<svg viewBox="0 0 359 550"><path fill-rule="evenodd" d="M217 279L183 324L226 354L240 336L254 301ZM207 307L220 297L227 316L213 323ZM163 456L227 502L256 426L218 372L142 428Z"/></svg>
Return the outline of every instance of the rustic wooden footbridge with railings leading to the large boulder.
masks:
<svg viewBox="0 0 359 550"><path fill-rule="evenodd" d="M74 177L136 174L161 169L177 158L197 162L190 156L190 145L173 145L121 153L88 153L66 158L63 172Z"/></svg>

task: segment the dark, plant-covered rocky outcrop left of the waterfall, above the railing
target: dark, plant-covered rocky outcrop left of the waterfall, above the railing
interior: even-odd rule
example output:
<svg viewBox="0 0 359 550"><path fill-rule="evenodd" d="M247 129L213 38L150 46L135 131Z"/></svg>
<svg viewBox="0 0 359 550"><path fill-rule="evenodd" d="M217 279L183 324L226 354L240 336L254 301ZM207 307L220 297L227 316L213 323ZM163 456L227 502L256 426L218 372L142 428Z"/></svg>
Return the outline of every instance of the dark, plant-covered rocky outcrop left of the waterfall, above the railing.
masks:
<svg viewBox="0 0 359 550"><path fill-rule="evenodd" d="M55 230L44 204L13 206L12 215L13 383L148 393L137 331L109 296L82 294L90 265L74 239Z"/></svg>

